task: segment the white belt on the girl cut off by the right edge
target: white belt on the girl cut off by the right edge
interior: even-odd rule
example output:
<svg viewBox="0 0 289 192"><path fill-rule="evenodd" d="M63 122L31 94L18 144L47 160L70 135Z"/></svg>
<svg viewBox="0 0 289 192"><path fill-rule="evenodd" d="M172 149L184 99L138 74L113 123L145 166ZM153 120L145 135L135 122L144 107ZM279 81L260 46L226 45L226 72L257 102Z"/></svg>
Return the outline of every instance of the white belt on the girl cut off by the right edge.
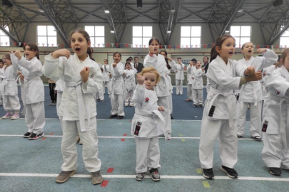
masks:
<svg viewBox="0 0 289 192"><path fill-rule="evenodd" d="M280 107L280 134L281 134L281 140L282 144L285 146L286 151L289 149L289 132L286 132L286 124L283 123L283 115L282 115L282 105L285 103L285 105L289 105L289 99L286 99L284 97L278 97L269 92L268 97L272 100L278 101L279 102L279 107Z"/></svg>

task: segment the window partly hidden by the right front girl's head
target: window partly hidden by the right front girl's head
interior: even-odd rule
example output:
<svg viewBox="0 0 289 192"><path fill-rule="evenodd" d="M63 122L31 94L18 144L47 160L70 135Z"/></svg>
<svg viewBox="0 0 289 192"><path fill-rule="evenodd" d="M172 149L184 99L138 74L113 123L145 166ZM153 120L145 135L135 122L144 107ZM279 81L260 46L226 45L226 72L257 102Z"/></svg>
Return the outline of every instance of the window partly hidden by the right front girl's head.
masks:
<svg viewBox="0 0 289 192"><path fill-rule="evenodd" d="M244 43L250 42L251 27L250 26L231 26L230 35L235 38L235 45L243 45Z"/></svg>

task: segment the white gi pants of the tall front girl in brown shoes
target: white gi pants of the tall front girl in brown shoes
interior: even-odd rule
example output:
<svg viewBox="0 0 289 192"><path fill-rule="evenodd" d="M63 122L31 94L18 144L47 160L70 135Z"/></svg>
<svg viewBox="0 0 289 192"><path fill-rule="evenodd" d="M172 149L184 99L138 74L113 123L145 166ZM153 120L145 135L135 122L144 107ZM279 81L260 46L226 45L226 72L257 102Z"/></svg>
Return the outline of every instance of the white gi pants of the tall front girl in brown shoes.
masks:
<svg viewBox="0 0 289 192"><path fill-rule="evenodd" d="M85 124L88 122L85 120ZM84 166L88 172L96 172L101 169L101 160L98 159L98 136L96 134L96 117L90 119L90 124L85 132L81 132L79 121L64 121L61 117L63 132L61 151L64 164L61 171L73 171L77 167L76 136L79 134L83 143L82 156Z"/></svg>

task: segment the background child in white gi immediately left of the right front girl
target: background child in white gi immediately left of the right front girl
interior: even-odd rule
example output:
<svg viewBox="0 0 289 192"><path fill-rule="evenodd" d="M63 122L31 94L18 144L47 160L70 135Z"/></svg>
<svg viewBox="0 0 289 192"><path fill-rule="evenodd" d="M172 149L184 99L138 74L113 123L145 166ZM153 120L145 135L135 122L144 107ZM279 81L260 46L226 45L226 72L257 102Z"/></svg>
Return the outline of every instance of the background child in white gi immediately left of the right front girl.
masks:
<svg viewBox="0 0 289 192"><path fill-rule="evenodd" d="M193 107L203 107L203 75L205 75L205 69L201 68L201 65L201 61L198 60L192 76Z"/></svg>

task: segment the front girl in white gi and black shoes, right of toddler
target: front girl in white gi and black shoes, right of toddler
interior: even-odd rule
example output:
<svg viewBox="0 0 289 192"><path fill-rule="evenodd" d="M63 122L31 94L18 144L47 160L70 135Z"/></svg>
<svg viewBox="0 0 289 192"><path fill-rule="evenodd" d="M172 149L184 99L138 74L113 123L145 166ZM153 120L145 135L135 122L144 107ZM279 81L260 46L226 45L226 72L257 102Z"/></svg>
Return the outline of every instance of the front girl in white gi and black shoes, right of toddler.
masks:
<svg viewBox="0 0 289 192"><path fill-rule="evenodd" d="M203 110L199 156L203 176L213 179L213 147L219 139L221 170L230 178L238 178L234 169L237 163L238 138L236 127L236 99L233 90L246 82L260 80L262 74L253 67L238 65L230 60L235 52L235 39L230 35L217 38L211 50L212 62L207 77L210 90ZM238 77L250 75L248 78Z"/></svg>

